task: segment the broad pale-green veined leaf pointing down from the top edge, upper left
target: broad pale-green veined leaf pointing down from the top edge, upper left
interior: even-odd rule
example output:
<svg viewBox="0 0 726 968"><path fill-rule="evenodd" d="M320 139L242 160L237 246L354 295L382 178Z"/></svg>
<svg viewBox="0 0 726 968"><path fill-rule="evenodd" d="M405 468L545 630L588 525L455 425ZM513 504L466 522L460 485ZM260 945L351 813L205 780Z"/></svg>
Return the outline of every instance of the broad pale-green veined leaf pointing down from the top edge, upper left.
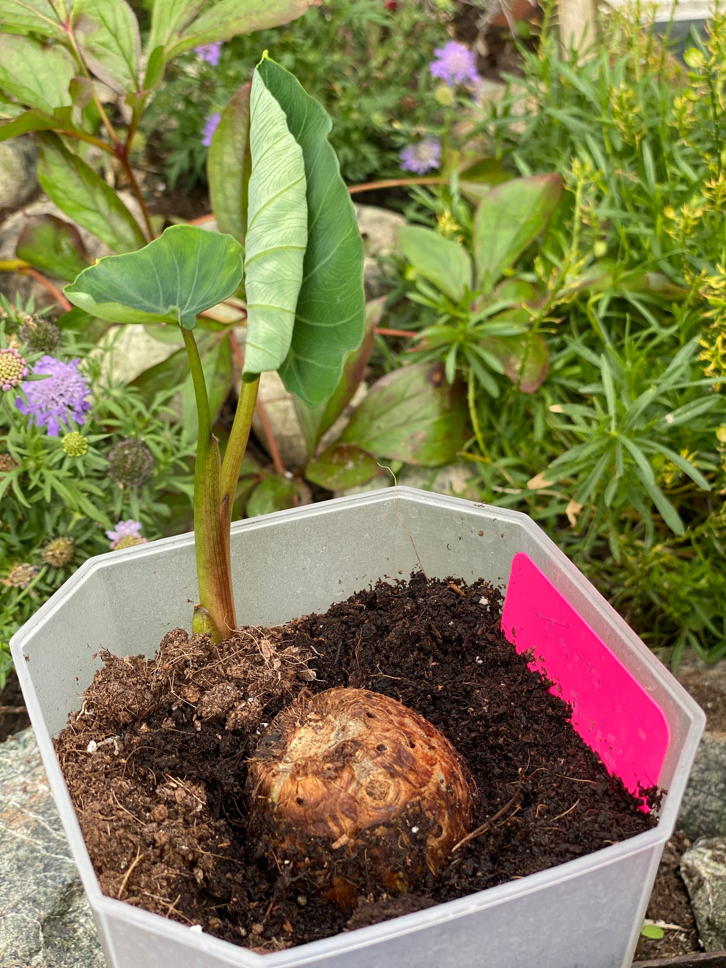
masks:
<svg viewBox="0 0 726 968"><path fill-rule="evenodd" d="M141 42L126 0L76 0L73 26L83 59L112 90L138 90Z"/></svg>

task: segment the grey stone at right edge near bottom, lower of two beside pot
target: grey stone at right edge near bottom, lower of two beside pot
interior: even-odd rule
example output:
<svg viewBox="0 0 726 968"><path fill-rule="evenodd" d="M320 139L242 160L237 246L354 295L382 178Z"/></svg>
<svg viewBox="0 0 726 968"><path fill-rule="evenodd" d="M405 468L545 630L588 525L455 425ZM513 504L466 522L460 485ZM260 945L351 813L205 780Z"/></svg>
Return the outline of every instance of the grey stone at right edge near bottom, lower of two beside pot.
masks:
<svg viewBox="0 0 726 968"><path fill-rule="evenodd" d="M704 837L681 857L698 931L707 952L726 949L726 839Z"/></svg>

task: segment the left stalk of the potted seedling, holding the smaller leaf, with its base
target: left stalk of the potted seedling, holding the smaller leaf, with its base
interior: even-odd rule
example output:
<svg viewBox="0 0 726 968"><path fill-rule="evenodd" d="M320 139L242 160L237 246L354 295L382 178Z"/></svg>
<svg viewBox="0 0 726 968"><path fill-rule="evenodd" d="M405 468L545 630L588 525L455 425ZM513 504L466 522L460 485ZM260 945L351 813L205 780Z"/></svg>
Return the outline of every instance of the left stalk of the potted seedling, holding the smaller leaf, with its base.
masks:
<svg viewBox="0 0 726 968"><path fill-rule="evenodd" d="M237 624L229 567L229 519L221 502L220 448L212 434L199 350L191 329L182 328L182 334L197 398L198 422L194 506L200 614L195 616L192 628L193 631L210 632L212 641L221 642Z"/></svg>

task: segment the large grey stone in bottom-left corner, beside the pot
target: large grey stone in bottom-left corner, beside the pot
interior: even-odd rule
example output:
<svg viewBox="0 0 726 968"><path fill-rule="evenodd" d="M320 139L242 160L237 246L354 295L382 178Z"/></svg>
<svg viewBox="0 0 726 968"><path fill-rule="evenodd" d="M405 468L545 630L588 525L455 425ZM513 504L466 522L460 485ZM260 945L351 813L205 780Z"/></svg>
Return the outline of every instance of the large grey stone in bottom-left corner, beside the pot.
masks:
<svg viewBox="0 0 726 968"><path fill-rule="evenodd" d="M32 729L0 743L0 964L106 965Z"/></svg>

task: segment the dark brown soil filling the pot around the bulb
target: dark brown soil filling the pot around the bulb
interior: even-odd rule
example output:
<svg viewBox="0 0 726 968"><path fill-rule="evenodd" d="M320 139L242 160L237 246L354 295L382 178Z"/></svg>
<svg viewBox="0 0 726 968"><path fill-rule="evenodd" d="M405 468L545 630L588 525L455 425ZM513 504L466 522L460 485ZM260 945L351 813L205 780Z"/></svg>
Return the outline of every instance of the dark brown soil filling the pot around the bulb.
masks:
<svg viewBox="0 0 726 968"><path fill-rule="evenodd" d="M104 892L259 952L524 877L649 829L652 815L574 732L499 628L479 581L379 582L325 615L219 647L176 629L154 660L106 667L56 741ZM133 647L133 644L130 644ZM247 758L301 690L392 696L464 757L471 832L439 881L360 897L352 915L248 843Z"/></svg>

